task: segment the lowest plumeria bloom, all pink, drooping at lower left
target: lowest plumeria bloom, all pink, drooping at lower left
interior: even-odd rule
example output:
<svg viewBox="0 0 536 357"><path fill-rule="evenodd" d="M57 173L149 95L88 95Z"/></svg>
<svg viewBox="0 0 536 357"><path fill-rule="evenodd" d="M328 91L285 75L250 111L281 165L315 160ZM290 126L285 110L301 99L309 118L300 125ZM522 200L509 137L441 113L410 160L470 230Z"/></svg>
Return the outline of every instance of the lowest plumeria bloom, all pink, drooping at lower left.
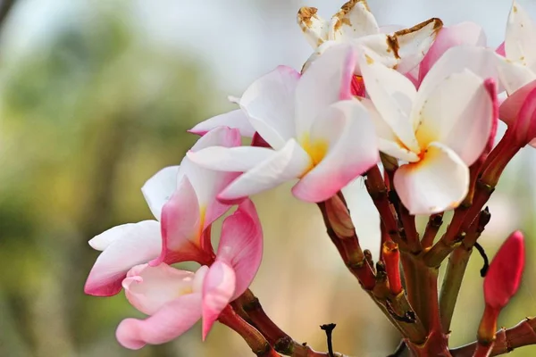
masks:
<svg viewBox="0 0 536 357"><path fill-rule="evenodd" d="M203 339L223 309L253 281L263 255L263 232L254 204L246 200L223 221L215 262L194 274L163 263L132 268L125 295L146 320L126 319L117 328L121 345L139 349L163 344L203 319Z"/></svg>

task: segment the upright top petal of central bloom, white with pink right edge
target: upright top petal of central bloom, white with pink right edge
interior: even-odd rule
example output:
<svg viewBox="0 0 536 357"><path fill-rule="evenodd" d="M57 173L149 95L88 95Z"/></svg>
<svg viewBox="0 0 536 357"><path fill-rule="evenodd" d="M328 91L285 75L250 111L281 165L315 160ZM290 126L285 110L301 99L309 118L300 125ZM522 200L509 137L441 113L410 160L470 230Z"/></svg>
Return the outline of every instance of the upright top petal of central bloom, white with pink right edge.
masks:
<svg viewBox="0 0 536 357"><path fill-rule="evenodd" d="M352 98L350 83L356 69L352 46L331 46L311 63L296 88L297 138L308 132L314 118L331 104Z"/></svg>

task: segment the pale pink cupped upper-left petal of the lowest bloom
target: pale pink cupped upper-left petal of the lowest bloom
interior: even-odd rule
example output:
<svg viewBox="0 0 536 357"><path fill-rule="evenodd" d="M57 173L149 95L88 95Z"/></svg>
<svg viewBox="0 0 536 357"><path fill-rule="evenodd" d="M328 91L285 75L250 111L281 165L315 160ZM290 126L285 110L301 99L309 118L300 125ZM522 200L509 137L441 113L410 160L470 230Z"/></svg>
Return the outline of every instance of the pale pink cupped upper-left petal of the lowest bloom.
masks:
<svg viewBox="0 0 536 357"><path fill-rule="evenodd" d="M178 270L164 263L155 267L142 264L129 270L122 286L132 306L153 315L178 295L191 294L194 277L191 271Z"/></svg>

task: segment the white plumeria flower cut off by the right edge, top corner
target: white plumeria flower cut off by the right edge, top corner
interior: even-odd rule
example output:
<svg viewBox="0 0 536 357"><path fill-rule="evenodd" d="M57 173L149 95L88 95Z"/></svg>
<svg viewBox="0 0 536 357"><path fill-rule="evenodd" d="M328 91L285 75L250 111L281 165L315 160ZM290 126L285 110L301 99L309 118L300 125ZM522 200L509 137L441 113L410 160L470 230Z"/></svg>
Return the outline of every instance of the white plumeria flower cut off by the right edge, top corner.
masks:
<svg viewBox="0 0 536 357"><path fill-rule="evenodd" d="M503 49L507 61L499 63L504 71L503 85L510 95L536 79L536 24L515 1L508 16Z"/></svg>

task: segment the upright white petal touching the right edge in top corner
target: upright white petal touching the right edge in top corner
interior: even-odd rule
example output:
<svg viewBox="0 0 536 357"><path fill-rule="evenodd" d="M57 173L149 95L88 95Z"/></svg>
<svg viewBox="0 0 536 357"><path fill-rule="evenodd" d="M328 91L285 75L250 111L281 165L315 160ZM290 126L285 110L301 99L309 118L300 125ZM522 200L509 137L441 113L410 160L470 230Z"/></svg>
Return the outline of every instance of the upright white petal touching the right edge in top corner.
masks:
<svg viewBox="0 0 536 357"><path fill-rule="evenodd" d="M505 52L507 59L536 70L536 24L528 12L513 2L508 16Z"/></svg>

